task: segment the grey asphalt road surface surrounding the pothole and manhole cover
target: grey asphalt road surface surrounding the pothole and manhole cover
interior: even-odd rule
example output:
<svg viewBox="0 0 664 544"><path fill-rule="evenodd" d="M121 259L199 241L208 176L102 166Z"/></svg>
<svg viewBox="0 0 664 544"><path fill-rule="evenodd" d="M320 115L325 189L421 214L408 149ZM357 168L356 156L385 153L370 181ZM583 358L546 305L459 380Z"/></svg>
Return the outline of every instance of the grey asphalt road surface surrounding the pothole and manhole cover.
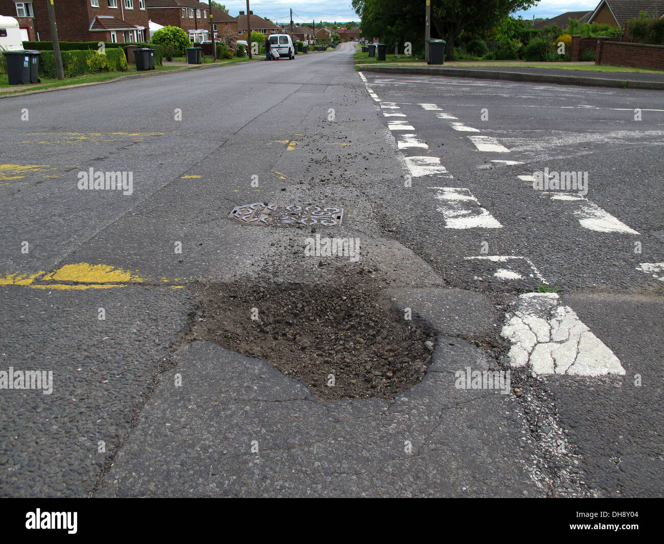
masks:
<svg viewBox="0 0 664 544"><path fill-rule="evenodd" d="M2 496L661 496L663 94L354 50L0 100ZM321 401L191 334L234 282L372 286L436 329L428 369Z"/></svg>

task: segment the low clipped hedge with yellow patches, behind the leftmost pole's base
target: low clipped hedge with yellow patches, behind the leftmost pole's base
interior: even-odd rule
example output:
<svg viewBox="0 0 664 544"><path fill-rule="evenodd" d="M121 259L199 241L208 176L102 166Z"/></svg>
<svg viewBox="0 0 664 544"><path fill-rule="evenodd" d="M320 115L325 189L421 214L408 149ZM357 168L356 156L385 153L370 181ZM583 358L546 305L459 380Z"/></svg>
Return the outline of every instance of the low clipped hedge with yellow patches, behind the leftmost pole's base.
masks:
<svg viewBox="0 0 664 544"><path fill-rule="evenodd" d="M64 77L73 78L98 72L120 72L127 69L127 57L120 48L106 49L106 54L97 50L62 51ZM46 78L56 78L55 56L52 51L42 50L39 56L39 74Z"/></svg>

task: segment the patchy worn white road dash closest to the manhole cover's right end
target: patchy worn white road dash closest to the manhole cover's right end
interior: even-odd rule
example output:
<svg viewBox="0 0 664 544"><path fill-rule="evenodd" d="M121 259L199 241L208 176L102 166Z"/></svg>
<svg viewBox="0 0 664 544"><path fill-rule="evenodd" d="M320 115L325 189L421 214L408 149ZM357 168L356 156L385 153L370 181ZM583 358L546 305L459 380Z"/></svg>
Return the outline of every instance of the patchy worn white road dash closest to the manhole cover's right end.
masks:
<svg viewBox="0 0 664 544"><path fill-rule="evenodd" d="M445 218L445 228L503 228L464 187L429 187L436 189L441 201L438 211Z"/></svg>

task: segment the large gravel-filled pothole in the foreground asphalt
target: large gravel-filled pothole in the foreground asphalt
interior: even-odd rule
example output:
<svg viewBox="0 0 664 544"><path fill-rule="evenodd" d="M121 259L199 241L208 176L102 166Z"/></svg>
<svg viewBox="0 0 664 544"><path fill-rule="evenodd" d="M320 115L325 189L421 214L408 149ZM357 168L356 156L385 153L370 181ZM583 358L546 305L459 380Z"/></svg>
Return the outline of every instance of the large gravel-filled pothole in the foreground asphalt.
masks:
<svg viewBox="0 0 664 544"><path fill-rule="evenodd" d="M393 397L418 383L436 334L349 287L201 284L191 338L268 361L322 400Z"/></svg>

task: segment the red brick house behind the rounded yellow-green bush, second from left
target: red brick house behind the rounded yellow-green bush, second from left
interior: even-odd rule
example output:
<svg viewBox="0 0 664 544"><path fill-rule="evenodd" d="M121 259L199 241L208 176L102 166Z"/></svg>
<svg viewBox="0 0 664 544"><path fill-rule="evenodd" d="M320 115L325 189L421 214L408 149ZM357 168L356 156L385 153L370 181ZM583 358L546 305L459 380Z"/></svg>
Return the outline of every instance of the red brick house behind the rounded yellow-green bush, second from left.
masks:
<svg viewBox="0 0 664 544"><path fill-rule="evenodd" d="M145 0L151 21L180 27L193 42L210 39L210 6L197 0ZM216 11L216 10L214 10ZM218 11L218 13L222 13ZM212 13L214 21L214 13Z"/></svg>

